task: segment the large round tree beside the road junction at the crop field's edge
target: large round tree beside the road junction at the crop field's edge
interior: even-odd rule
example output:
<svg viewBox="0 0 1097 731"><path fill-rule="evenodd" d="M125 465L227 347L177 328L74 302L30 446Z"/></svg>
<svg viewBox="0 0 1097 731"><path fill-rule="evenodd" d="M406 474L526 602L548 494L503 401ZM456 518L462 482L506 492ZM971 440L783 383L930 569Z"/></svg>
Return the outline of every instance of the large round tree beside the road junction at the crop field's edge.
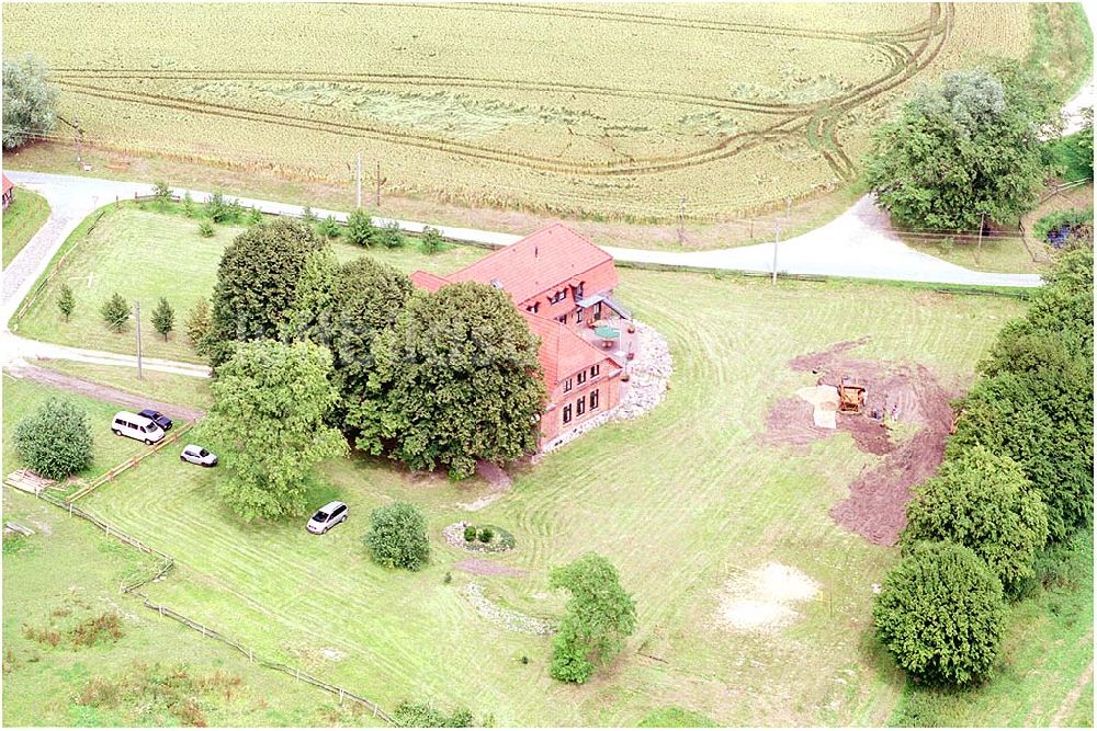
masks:
<svg viewBox="0 0 1097 731"><path fill-rule="evenodd" d="M972 230L1031 209L1049 169L1040 141L1047 84L1009 66L952 71L880 127L866 178L892 219Z"/></svg>

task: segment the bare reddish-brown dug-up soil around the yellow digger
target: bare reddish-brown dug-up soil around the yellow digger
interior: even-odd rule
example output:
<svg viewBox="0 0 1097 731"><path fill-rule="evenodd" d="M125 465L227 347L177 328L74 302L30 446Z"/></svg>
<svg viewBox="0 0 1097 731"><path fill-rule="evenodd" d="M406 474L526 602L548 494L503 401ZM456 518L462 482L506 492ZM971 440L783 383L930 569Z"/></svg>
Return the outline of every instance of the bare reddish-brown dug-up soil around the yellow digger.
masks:
<svg viewBox="0 0 1097 731"><path fill-rule="evenodd" d="M837 414L838 432L847 432L864 453L882 456L875 467L862 471L849 486L849 498L830 511L848 530L874 544L893 545L906 525L911 488L932 476L945 456L945 439L952 427L955 398L921 365L852 358L847 353L864 345L868 338L838 343L826 351L793 358L793 370L810 372L819 382L837 384L852 376L867 386L860 414ZM874 419L873 414L880 416ZM917 432L896 444L887 421L913 424ZM781 399L770 411L762 439L769 444L803 447L836 433L816 426L812 404L802 397Z"/></svg>

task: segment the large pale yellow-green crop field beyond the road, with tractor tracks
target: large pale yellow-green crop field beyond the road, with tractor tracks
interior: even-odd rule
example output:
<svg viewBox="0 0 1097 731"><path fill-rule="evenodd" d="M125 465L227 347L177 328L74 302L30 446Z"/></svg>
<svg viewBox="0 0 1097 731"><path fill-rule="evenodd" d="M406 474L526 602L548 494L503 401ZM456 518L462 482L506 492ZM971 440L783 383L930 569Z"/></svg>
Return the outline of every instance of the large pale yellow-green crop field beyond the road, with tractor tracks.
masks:
<svg viewBox="0 0 1097 731"><path fill-rule="evenodd" d="M1004 3L3 14L4 55L55 70L90 146L327 183L362 152L389 194L664 221L681 196L711 220L845 187L918 82L1034 37Z"/></svg>

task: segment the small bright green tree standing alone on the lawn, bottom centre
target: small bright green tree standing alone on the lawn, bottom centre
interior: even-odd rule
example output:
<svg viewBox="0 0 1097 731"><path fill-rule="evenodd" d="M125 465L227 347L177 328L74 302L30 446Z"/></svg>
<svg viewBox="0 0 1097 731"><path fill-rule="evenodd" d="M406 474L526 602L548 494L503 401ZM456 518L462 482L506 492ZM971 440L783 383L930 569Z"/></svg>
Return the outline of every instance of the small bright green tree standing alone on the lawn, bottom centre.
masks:
<svg viewBox="0 0 1097 731"><path fill-rule="evenodd" d="M597 553L554 569L548 585L572 593L553 640L548 673L565 683L585 683L635 631L636 603L621 587L613 564Z"/></svg>

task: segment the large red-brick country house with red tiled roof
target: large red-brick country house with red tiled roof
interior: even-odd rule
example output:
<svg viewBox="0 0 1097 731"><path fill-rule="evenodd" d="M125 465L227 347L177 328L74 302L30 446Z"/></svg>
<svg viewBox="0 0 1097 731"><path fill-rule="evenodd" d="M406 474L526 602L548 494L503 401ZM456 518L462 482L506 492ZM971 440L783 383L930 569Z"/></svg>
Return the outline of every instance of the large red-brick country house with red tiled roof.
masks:
<svg viewBox="0 0 1097 731"><path fill-rule="evenodd" d="M479 282L510 295L541 339L538 355L548 391L542 445L618 406L633 354L631 323L622 321L629 313L612 299L613 259L572 229L555 224L446 277L419 271L411 282L430 292ZM596 322L601 327L595 329Z"/></svg>

